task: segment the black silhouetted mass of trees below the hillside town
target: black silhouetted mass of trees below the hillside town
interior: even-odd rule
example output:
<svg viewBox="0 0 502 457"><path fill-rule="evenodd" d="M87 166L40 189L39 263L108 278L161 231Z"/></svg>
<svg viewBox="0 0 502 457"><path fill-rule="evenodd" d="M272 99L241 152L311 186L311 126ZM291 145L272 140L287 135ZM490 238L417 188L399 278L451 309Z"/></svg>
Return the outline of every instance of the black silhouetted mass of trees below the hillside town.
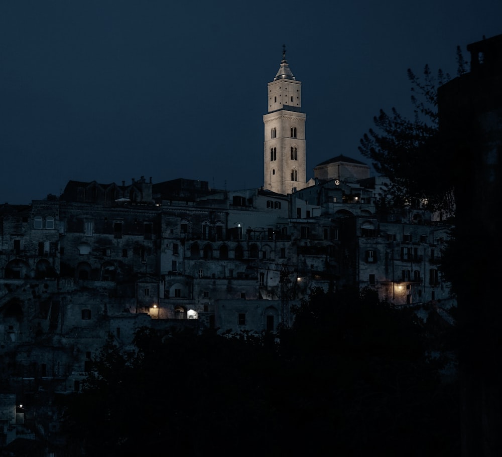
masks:
<svg viewBox="0 0 502 457"><path fill-rule="evenodd" d="M277 334L138 332L66 406L71 455L458 455L449 330L371 291L314 290ZM437 356L439 354L439 357Z"/></svg>

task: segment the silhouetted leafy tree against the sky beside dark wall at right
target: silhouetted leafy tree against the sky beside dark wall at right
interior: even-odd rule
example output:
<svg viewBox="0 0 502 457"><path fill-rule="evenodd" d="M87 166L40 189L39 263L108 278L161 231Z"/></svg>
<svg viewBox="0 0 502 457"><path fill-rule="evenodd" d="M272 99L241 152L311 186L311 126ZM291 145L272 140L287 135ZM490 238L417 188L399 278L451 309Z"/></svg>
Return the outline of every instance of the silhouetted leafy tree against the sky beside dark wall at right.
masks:
<svg viewBox="0 0 502 457"><path fill-rule="evenodd" d="M392 108L380 110L360 140L360 153L374 169L391 180L387 205L414 205L427 201L429 208L451 210L452 180L450 158L441 148L438 129L437 89L449 80L441 70L434 77L426 65L423 79L410 69L414 118L408 119Z"/></svg>

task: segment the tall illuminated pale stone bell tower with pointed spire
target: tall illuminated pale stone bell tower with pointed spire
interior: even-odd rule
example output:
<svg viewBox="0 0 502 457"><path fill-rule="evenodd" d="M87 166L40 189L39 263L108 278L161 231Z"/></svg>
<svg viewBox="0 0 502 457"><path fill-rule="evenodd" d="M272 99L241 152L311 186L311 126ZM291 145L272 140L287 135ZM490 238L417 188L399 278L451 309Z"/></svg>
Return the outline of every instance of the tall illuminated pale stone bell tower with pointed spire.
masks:
<svg viewBox="0 0 502 457"><path fill-rule="evenodd" d="M284 47L283 47L284 48ZM306 187L305 113L302 83L297 81L283 49L281 67L268 84L269 112L263 116L264 189L290 194Z"/></svg>

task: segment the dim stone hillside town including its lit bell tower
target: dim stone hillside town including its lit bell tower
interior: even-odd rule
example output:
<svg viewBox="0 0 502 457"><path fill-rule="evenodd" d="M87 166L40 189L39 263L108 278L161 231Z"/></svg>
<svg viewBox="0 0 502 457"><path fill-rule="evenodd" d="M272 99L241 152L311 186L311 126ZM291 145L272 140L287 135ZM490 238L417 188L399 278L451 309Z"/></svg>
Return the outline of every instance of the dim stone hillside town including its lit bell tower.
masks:
<svg viewBox="0 0 502 457"><path fill-rule="evenodd" d="M275 331L314 287L452 301L438 268L447 215L379 211L389 181L342 155L307 181L301 82L285 55L267 105L263 188L69 181L60 196L0 206L2 443L23 430L20 402L80 388L108 335L128 350L144 326ZM40 413L39 426L56 419Z"/></svg>

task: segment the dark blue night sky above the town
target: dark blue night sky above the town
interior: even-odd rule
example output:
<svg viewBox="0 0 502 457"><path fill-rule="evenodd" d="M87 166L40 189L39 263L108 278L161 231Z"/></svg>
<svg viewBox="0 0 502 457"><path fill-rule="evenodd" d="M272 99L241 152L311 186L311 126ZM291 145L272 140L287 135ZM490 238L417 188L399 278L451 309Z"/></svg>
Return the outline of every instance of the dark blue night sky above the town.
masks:
<svg viewBox="0 0 502 457"><path fill-rule="evenodd" d="M282 46L307 113L307 179L379 109L411 112L407 69L456 76L456 46L502 33L500 0L0 0L0 203L69 180L263 185L267 83Z"/></svg>

